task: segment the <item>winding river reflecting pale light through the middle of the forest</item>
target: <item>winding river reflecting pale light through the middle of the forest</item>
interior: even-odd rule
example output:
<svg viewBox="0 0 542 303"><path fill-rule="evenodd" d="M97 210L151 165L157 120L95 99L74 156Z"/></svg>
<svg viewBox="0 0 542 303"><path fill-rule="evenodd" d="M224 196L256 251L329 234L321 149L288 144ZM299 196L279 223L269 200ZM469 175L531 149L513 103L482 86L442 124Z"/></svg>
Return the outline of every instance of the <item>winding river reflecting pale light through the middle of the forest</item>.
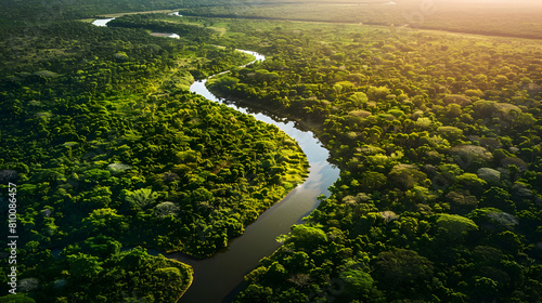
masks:
<svg viewBox="0 0 542 303"><path fill-rule="evenodd" d="M255 61L264 60L261 54L243 52L255 55ZM284 199L263 212L256 222L245 228L241 237L231 240L228 248L217 252L214 256L195 260L182 253L167 255L194 268L192 286L180 299L180 303L231 302L243 287L243 277L258 265L261 258L270 255L280 247L275 238L287 234L292 225L302 223L302 218L318 207L317 198L322 194L327 196L330 194L327 188L339 175L338 168L327 162L330 153L312 132L271 113L221 100L207 90L206 81L194 82L190 91L210 101L223 103L244 114L253 115L256 119L283 130L299 143L307 155L310 173L304 184L298 185Z"/></svg>

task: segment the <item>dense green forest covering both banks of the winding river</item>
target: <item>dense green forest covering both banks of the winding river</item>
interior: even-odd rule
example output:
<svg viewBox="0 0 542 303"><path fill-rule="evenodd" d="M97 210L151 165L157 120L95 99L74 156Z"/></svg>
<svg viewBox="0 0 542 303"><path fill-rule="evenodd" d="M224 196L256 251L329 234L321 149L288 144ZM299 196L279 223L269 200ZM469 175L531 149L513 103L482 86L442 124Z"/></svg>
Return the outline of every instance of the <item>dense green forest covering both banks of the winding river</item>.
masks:
<svg viewBox="0 0 542 303"><path fill-rule="evenodd" d="M21 21L42 4L12 2ZM129 15L108 28L66 21L121 10L88 1L29 30L10 24L0 189L17 184L20 294L0 302L176 302L193 271L139 247L212 255L302 182L295 141L188 91L225 69L210 90L302 123L341 170L235 302L540 302L542 42L509 38L540 38L538 11L505 17L495 5L478 26L477 10L396 1L425 8L417 27L508 38L270 19L367 22L314 2L185 2L196 16ZM403 11L366 2L363 17L401 25L391 19ZM251 60L236 48L267 60L236 68Z"/></svg>

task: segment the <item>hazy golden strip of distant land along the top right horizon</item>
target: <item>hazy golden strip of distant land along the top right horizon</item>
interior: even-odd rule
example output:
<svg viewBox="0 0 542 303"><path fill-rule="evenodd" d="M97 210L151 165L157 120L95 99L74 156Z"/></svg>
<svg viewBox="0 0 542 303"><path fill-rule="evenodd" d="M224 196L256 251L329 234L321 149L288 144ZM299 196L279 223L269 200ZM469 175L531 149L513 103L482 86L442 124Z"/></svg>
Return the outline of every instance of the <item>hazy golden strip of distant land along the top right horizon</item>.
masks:
<svg viewBox="0 0 542 303"><path fill-rule="evenodd" d="M442 29L492 36L542 38L542 4L535 0L439 1L346 0L262 1L242 8L222 4L188 6L186 15L295 19Z"/></svg>

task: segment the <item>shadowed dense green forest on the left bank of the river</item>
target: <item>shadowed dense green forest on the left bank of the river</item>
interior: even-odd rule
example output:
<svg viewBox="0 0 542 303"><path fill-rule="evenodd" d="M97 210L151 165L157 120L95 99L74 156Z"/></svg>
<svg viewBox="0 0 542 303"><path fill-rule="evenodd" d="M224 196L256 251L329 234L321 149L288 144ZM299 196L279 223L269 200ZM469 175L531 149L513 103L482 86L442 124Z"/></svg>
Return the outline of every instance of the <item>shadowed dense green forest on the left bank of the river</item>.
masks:
<svg viewBox="0 0 542 303"><path fill-rule="evenodd" d="M17 184L18 291L37 302L175 302L192 269L120 248L210 255L306 176L276 127L188 91L253 60L197 42L217 31L35 29L2 34L0 179Z"/></svg>

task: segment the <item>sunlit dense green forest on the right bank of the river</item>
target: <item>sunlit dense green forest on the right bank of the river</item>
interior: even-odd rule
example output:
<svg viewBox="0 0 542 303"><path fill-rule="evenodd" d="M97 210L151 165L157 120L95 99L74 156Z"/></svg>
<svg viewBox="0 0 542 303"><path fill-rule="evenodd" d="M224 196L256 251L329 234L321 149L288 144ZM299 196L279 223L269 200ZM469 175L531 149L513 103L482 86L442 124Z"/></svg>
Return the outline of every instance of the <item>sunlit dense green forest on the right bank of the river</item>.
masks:
<svg viewBox="0 0 542 303"><path fill-rule="evenodd" d="M238 302L539 302L540 42L231 29L269 57L209 87L312 127L341 168Z"/></svg>

